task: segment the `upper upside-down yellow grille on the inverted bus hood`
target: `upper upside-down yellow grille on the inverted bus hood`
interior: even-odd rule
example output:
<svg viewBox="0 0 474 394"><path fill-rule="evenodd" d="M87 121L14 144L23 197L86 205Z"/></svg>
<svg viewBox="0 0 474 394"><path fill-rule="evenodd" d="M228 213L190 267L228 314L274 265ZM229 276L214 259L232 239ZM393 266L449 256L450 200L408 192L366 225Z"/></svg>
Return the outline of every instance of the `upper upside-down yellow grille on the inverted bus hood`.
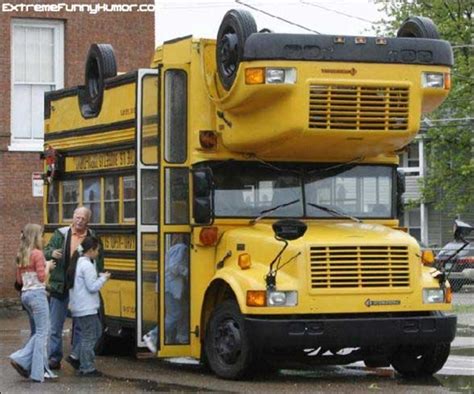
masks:
<svg viewBox="0 0 474 394"><path fill-rule="evenodd" d="M309 128L321 130L406 130L408 88L310 85Z"/></svg>

